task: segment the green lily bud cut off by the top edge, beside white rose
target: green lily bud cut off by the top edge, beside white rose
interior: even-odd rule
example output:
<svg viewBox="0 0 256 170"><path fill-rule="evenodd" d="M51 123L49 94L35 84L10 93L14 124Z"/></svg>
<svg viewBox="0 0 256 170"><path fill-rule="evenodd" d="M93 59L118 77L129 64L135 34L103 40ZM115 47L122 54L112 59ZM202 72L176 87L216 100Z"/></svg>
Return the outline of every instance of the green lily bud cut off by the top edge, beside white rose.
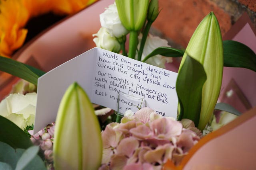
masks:
<svg viewBox="0 0 256 170"><path fill-rule="evenodd" d="M119 18L129 31L138 31L144 25L149 0L116 0Z"/></svg>

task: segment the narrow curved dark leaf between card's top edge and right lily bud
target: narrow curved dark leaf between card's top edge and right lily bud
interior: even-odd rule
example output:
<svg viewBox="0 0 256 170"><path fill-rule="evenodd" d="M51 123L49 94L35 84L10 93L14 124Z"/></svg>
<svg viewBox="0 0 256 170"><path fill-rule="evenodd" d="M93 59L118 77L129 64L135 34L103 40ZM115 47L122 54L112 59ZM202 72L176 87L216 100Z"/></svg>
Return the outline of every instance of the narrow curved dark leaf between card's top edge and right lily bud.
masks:
<svg viewBox="0 0 256 170"><path fill-rule="evenodd" d="M174 49L171 47L158 47L147 55L142 62L147 61L150 57L155 55L163 55L165 57L182 57L184 55L184 50Z"/></svg>

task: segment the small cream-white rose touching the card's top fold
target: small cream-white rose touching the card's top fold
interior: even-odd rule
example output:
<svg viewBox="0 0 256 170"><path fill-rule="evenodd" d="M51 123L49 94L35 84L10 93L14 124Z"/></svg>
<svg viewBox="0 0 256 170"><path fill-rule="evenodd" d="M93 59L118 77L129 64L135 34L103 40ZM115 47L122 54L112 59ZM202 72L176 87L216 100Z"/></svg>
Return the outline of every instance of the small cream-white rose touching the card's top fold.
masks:
<svg viewBox="0 0 256 170"><path fill-rule="evenodd" d="M114 53L118 53L121 49L121 45L116 40L116 37L112 37L105 27L101 27L98 33L93 34L92 36L97 36L93 39L97 47L113 51Z"/></svg>

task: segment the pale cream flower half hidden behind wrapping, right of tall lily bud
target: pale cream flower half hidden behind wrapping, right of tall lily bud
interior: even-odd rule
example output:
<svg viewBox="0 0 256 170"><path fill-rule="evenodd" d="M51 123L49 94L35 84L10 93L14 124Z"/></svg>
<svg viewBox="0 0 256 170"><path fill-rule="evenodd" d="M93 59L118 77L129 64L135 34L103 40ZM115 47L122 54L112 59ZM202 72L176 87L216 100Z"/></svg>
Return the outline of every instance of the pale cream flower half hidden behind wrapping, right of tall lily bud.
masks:
<svg viewBox="0 0 256 170"><path fill-rule="evenodd" d="M238 117L237 115L234 115L232 113L228 113L226 111L222 111L220 113L220 120L217 123L216 122L216 117L214 115L214 117L212 119L212 123L211 123L212 130L215 131L215 130L219 129L220 127L228 124L230 121L236 119L237 117Z"/></svg>

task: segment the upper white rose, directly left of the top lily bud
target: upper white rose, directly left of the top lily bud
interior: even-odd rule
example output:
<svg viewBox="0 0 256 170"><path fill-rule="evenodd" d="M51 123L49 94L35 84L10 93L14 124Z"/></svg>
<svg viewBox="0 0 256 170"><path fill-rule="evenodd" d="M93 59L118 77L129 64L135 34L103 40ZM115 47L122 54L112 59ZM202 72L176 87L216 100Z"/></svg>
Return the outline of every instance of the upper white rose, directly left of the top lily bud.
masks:
<svg viewBox="0 0 256 170"><path fill-rule="evenodd" d="M129 32L120 21L116 3L108 6L108 8L100 14L100 24L102 27L108 29L110 35L117 38L127 35Z"/></svg>

